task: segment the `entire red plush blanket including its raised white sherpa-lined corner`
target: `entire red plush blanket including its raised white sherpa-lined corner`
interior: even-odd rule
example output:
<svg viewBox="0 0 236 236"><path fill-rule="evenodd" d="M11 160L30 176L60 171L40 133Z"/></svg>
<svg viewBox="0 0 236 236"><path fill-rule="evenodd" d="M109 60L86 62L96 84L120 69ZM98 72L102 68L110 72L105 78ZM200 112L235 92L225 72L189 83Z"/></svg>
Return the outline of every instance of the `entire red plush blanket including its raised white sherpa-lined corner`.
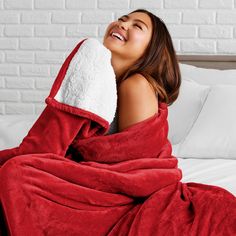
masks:
<svg viewBox="0 0 236 236"><path fill-rule="evenodd" d="M90 73L88 64L78 61L90 55L87 62L94 64L101 61L103 52L109 56L97 42L87 43L95 43L98 51L89 46L88 54L80 48L82 54L69 56L67 67L61 69L64 76L56 79L47 99L47 109L55 109L52 114L56 112L59 118L52 117L50 122L45 118L44 126L35 130L36 150L32 153L32 139L28 139L25 152L5 159L4 151L0 153L4 160L0 235L236 235L232 193L181 182L182 172L167 138L167 104L159 102L153 116L105 135L116 109L115 78L109 57L107 74L100 65ZM101 92L100 86L106 90ZM78 93L78 88L85 93ZM94 88L99 89L95 92ZM48 139L40 135L54 129L55 122L60 133L54 137L49 132L53 142L48 145ZM5 151L6 156L10 152Z"/></svg>

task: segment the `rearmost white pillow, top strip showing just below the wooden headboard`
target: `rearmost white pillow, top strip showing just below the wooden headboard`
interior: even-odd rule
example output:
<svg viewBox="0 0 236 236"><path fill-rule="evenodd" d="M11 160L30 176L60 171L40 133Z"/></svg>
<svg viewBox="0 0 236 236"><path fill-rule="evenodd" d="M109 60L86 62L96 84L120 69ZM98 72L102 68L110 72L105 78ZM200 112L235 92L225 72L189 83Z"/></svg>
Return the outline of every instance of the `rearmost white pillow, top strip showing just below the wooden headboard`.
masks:
<svg viewBox="0 0 236 236"><path fill-rule="evenodd" d="M182 79L192 79L199 84L236 85L236 70L218 70L179 63Z"/></svg>

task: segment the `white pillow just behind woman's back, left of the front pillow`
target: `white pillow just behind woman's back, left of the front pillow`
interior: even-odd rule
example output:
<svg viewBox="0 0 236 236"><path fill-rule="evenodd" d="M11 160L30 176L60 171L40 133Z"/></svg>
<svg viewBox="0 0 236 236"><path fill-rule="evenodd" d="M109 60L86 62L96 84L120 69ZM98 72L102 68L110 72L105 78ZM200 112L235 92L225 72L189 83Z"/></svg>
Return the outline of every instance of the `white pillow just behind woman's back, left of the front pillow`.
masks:
<svg viewBox="0 0 236 236"><path fill-rule="evenodd" d="M192 80L182 80L179 96L168 107L168 138L172 144L179 143L189 132L203 106L209 86Z"/></svg>

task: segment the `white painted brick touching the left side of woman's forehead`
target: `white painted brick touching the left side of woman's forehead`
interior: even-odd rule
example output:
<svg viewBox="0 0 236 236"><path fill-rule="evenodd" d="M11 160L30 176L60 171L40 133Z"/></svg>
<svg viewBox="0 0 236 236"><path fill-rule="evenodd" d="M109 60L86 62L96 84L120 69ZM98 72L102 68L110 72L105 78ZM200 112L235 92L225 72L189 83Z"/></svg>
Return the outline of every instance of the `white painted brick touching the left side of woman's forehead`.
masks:
<svg viewBox="0 0 236 236"><path fill-rule="evenodd" d="M82 14L82 23L110 23L112 21L111 12L90 11Z"/></svg>

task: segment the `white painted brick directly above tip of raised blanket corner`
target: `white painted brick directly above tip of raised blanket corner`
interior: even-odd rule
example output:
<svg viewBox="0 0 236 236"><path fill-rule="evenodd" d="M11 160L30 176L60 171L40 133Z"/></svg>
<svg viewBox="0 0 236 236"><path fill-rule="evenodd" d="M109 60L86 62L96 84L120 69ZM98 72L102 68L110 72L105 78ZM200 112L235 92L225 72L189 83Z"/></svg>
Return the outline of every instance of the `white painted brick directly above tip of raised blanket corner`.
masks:
<svg viewBox="0 0 236 236"><path fill-rule="evenodd" d="M68 26L66 29L67 36L85 36L85 37L96 37L97 36L97 26L95 25L76 25Z"/></svg>

